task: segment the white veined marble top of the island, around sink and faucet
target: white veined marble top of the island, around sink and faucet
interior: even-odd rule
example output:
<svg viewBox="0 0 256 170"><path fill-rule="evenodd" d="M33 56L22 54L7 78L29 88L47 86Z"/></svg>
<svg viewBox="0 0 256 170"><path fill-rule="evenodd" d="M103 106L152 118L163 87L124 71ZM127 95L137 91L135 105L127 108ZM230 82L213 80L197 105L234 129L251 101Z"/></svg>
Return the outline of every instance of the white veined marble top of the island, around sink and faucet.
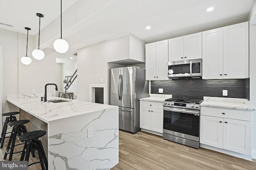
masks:
<svg viewBox="0 0 256 170"><path fill-rule="evenodd" d="M47 94L48 95L48 94ZM83 102L58 97L47 97L47 100L68 100L68 102L52 103L41 101L41 95L7 95L7 101L30 113L31 115L48 123L58 119L92 113L94 111L109 109L118 106Z"/></svg>

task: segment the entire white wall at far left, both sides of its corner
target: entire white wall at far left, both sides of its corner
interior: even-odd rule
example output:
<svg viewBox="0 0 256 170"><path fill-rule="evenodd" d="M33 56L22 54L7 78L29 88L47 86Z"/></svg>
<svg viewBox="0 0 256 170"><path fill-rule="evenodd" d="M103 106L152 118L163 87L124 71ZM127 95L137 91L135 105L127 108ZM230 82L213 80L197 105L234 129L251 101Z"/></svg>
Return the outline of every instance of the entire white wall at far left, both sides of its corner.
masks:
<svg viewBox="0 0 256 170"><path fill-rule="evenodd" d="M34 39L28 36L28 56L32 63L24 65L20 62L21 57L26 55L27 34L17 33L0 29L0 45L2 45L2 112L17 111L17 107L6 101L7 94L31 94L32 89L36 93L44 93L47 83L55 83L56 52L45 49L45 57L36 60L32 57ZM54 86L48 87L47 92L54 92Z"/></svg>

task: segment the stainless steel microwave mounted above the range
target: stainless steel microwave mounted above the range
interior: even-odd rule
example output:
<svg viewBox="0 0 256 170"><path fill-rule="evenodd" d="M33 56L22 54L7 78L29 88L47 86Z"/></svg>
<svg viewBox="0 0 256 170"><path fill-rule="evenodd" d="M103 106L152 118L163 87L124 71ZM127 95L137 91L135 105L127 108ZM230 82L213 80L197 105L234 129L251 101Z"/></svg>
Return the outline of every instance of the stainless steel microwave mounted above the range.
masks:
<svg viewBox="0 0 256 170"><path fill-rule="evenodd" d="M202 77L202 59L168 62L168 78Z"/></svg>

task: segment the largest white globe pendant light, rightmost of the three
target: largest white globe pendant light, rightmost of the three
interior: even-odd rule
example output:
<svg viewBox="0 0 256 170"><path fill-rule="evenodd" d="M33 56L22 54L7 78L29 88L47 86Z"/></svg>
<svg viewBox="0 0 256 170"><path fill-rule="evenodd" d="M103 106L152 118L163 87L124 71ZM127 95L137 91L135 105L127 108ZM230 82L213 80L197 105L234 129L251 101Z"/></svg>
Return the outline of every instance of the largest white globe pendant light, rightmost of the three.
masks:
<svg viewBox="0 0 256 170"><path fill-rule="evenodd" d="M62 39L62 0L60 0L60 39L54 41L53 47L58 53L66 53L68 51L68 42Z"/></svg>

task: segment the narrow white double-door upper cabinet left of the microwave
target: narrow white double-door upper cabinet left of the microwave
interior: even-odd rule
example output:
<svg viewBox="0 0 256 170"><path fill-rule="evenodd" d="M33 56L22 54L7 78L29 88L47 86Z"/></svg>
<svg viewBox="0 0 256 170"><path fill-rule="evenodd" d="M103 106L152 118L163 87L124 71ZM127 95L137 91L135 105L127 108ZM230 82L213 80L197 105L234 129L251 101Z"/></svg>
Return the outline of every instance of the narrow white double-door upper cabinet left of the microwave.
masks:
<svg viewBox="0 0 256 170"><path fill-rule="evenodd" d="M146 44L146 80L168 80L168 40Z"/></svg>

